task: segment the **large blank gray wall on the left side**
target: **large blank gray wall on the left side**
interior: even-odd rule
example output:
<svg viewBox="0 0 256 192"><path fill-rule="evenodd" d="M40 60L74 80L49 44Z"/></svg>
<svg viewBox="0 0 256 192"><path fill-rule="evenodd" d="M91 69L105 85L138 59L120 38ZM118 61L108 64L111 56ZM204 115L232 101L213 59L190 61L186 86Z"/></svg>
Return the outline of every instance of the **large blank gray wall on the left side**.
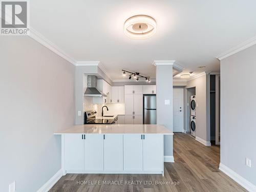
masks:
<svg viewBox="0 0 256 192"><path fill-rule="evenodd" d="M74 66L27 36L0 36L0 191L36 191L61 168L54 130L74 123Z"/></svg>

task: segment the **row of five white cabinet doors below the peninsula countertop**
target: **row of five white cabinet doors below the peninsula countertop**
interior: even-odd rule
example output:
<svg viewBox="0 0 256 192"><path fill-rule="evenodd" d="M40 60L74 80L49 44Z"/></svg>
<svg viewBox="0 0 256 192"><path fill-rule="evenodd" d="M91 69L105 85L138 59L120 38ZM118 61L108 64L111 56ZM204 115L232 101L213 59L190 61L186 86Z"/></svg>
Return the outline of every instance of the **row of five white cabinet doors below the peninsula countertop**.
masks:
<svg viewBox="0 0 256 192"><path fill-rule="evenodd" d="M65 173L163 174L161 134L66 134Z"/></svg>

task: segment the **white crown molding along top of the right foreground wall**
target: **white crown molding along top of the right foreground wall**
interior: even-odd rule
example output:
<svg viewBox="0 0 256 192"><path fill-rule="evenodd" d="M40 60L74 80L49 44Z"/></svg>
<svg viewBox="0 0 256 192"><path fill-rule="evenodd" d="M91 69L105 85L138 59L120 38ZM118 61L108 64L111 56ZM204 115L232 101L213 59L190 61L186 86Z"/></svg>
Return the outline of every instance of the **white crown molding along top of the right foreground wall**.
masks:
<svg viewBox="0 0 256 192"><path fill-rule="evenodd" d="M216 58L219 60L222 60L224 58L227 58L233 54L236 54L236 53L243 51L243 50L245 50L251 46L254 46L254 45L256 45L256 36L242 42L242 44L240 44L236 47L233 47L233 48L227 50L226 52L218 55Z"/></svg>

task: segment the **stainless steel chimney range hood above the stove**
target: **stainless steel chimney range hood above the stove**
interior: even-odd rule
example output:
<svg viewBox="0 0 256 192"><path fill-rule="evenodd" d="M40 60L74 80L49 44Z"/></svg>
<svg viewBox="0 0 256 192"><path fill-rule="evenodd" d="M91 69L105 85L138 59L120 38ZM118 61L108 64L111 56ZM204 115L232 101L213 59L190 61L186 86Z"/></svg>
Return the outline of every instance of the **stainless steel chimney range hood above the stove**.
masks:
<svg viewBox="0 0 256 192"><path fill-rule="evenodd" d="M106 94L101 93L97 87L97 76L95 75L88 75L87 77L87 89L84 92L84 96L89 97L106 97Z"/></svg>

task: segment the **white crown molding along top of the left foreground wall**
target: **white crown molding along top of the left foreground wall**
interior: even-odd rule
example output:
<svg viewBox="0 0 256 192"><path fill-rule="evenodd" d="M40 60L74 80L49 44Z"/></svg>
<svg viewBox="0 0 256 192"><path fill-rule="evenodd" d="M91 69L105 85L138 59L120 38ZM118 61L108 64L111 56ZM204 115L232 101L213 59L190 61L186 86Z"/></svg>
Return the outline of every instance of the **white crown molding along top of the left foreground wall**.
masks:
<svg viewBox="0 0 256 192"><path fill-rule="evenodd" d="M30 27L30 33L28 35L29 37L33 38L37 42L39 42L41 45L45 46L46 48L50 49L54 53L56 53L58 56L62 57L63 59L69 61L73 65L76 65L76 60L69 56L65 51L61 50L58 46L56 46L52 41L48 40L44 35Z"/></svg>

